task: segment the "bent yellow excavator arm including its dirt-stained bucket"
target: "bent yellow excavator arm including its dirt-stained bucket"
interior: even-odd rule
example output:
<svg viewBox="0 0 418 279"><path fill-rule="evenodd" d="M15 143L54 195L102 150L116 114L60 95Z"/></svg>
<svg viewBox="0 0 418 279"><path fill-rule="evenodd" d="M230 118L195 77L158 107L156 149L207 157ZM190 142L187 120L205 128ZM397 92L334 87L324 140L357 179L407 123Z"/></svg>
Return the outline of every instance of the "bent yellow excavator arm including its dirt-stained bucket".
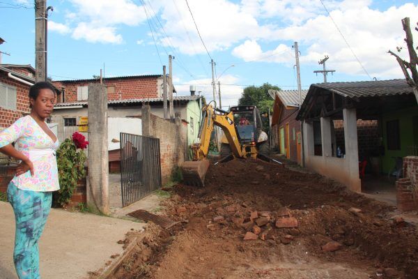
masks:
<svg viewBox="0 0 418 279"><path fill-rule="evenodd" d="M206 157L209 151L210 135L215 126L221 127L224 131L233 155L237 158L242 157L241 145L233 123L233 113L216 109L212 105L206 105L203 107L199 141L192 145L193 161L183 163L183 181L188 185L204 185L209 167L209 160Z"/></svg>

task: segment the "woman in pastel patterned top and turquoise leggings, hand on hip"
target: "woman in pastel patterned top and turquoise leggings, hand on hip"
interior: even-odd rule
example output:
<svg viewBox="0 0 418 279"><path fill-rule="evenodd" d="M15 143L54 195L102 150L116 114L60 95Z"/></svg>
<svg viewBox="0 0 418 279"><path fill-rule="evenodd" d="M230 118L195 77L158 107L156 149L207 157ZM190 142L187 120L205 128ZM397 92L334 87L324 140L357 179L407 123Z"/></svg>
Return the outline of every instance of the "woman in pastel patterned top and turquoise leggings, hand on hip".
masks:
<svg viewBox="0 0 418 279"><path fill-rule="evenodd" d="M54 87L47 82L34 84L29 101L31 114L0 132L0 152L22 161L7 189L15 211L13 260L20 279L40 278L38 239L51 209L52 191L59 190L55 157L59 142L45 123L54 108Z"/></svg>

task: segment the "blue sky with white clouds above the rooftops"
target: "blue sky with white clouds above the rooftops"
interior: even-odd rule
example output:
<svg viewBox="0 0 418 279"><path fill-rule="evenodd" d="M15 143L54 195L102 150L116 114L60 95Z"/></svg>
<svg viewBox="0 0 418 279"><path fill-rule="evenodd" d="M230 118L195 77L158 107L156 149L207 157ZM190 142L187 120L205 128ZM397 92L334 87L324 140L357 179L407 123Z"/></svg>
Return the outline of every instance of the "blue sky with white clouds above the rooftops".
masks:
<svg viewBox="0 0 418 279"><path fill-rule="evenodd" d="M0 1L2 63L35 65L31 0ZM418 1L401 0L48 0L48 73L53 80L100 75L162 74L174 56L178 96L196 84L212 100L212 69L222 106L236 105L245 86L265 82L302 89L323 82L318 61L336 70L328 82L403 78L388 50L403 47L401 19L418 22ZM194 24L196 22L196 24ZM197 26L197 29L196 29ZM199 33L200 37L199 37ZM414 31L415 42L418 32ZM202 42L203 41L203 42ZM417 44L416 44L417 45ZM218 89L217 89L218 90ZM217 97L218 98L218 97Z"/></svg>

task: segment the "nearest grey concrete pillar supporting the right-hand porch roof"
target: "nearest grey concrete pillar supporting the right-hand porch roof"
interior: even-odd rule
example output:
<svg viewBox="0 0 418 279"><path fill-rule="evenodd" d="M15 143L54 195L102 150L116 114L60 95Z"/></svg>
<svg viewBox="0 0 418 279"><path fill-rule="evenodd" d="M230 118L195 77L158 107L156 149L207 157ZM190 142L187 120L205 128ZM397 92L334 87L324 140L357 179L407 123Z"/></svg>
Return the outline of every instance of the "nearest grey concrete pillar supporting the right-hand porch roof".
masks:
<svg viewBox="0 0 418 279"><path fill-rule="evenodd" d="M359 150L357 145L357 114L355 109L343 109L344 117L344 141L346 142L346 160L348 160L348 172L350 176L350 190L362 191L359 179Z"/></svg>

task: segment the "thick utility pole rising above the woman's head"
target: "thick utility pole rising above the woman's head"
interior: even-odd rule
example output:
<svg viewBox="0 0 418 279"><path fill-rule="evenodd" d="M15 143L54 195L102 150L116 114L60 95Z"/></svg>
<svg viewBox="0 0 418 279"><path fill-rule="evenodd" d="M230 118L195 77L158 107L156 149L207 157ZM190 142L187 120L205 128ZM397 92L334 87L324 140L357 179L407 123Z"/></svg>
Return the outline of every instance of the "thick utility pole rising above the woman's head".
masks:
<svg viewBox="0 0 418 279"><path fill-rule="evenodd" d="M35 0L35 64L36 64L36 82L46 80L45 73L45 22L47 18L47 1Z"/></svg>

